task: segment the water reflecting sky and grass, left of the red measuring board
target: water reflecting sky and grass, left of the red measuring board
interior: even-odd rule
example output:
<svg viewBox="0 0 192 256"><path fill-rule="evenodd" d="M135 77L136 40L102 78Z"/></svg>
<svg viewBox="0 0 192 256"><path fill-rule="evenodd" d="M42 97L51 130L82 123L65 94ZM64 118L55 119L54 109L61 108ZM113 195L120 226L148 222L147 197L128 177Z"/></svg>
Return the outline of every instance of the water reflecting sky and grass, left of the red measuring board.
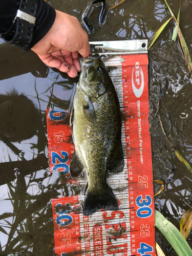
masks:
<svg viewBox="0 0 192 256"><path fill-rule="evenodd" d="M75 186L63 184L58 173L49 174L46 109L70 112L78 78L68 79L66 74L53 71L41 61L35 62L35 55L30 56L30 62L38 65L27 66L23 54L26 53L18 52L17 56L18 61L24 59L22 66L17 61L13 71L5 66L0 71L2 256L30 252L52 255L50 201L76 193ZM7 59L11 59L9 54Z"/></svg>

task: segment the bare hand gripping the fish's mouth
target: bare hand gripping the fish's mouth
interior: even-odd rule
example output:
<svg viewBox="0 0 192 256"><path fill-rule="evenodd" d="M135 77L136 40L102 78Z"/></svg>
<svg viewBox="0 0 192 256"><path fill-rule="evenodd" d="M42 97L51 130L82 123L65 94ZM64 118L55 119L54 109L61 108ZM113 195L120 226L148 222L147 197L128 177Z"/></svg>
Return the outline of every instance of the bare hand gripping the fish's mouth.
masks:
<svg viewBox="0 0 192 256"><path fill-rule="evenodd" d="M55 21L48 33L31 48L49 67L67 72L76 77L81 71L78 56L90 56L91 50L87 33L78 20L55 10Z"/></svg>

